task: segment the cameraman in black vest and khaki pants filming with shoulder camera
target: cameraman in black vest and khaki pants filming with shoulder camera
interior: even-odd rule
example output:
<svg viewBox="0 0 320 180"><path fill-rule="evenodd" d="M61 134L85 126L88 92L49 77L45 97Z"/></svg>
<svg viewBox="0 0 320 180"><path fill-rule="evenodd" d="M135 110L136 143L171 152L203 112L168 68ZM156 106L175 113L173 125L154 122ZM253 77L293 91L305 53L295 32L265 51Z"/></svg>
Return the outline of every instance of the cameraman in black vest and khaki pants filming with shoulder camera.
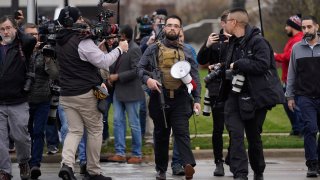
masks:
<svg viewBox="0 0 320 180"><path fill-rule="evenodd" d="M60 103L67 115L68 134L62 151L59 177L74 180L74 162L77 147L84 129L87 132L86 179L105 179L99 164L102 144L102 114L97 109L93 88L101 84L98 68L108 69L118 57L128 50L126 41L105 54L89 36L73 30L74 23L83 23L79 9L65 7L60 11L58 23L64 29L57 34L56 51L60 66ZM104 45L103 40L100 45Z"/></svg>

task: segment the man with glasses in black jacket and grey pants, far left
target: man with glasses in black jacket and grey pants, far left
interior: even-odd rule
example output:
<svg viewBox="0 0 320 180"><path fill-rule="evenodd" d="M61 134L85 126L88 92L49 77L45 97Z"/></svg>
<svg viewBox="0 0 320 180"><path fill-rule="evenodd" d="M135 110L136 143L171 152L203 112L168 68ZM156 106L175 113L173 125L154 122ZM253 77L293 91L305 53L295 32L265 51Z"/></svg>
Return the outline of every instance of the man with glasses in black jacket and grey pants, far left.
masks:
<svg viewBox="0 0 320 180"><path fill-rule="evenodd" d="M18 25L11 16L0 18L0 35L0 177L11 179L11 159L8 152L10 136L17 149L20 177L28 179L31 140L28 132L28 94L24 85L36 39L18 30Z"/></svg>

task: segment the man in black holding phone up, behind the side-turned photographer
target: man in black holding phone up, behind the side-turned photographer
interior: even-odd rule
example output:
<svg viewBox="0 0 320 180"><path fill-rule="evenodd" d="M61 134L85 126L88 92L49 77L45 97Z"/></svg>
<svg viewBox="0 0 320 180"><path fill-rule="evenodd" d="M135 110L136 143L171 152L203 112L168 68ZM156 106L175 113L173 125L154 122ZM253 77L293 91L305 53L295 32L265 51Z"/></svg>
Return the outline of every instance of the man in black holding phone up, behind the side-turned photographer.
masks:
<svg viewBox="0 0 320 180"><path fill-rule="evenodd" d="M230 36L226 35L224 30L228 13L229 11L224 11L221 15L220 26L222 27L222 29L220 30L220 33L211 33L208 37L208 40L199 50L197 57L198 63L200 65L207 65L209 63L209 69L213 67L212 65L218 63L225 64L228 42L225 39L219 39L219 35L220 37ZM225 67L221 67L220 69L225 69ZM220 71L220 75L217 75L218 77L212 77L208 82L206 82L206 88L209 91L213 118L212 145L216 164L216 169L213 175L224 176L222 134L224 130L224 103L227 99L227 93L225 90L227 89L226 86L228 85L228 83L222 77L222 70L214 70L213 68L211 70L216 72ZM208 76L211 75L210 72L211 71L209 70Z"/></svg>

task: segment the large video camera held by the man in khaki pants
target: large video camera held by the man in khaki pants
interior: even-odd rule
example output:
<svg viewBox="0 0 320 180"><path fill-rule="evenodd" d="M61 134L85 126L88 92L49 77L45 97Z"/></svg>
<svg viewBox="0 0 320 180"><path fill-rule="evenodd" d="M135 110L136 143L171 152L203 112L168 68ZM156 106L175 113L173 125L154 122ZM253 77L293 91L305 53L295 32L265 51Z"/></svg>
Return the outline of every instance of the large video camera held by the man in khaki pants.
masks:
<svg viewBox="0 0 320 180"><path fill-rule="evenodd" d="M113 38L119 33L118 24L111 24L110 18L114 16L114 11L106 8L106 3L116 3L118 0L100 0L98 7L101 9L97 15L98 23L93 27L94 35L102 41L103 39ZM111 37L112 36L112 37Z"/></svg>

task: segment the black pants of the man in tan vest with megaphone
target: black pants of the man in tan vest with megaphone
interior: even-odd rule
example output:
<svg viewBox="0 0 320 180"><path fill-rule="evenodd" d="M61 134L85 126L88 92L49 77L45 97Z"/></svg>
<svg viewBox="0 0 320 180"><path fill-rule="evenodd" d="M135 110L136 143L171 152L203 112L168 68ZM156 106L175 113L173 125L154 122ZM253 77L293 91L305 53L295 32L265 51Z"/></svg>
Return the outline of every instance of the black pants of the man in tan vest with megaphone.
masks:
<svg viewBox="0 0 320 180"><path fill-rule="evenodd" d="M164 117L159 102L159 94L151 93L149 110L154 122L154 149L156 170L165 172L168 167L169 138L172 128L180 158L183 165L196 165L191 146L189 133L189 118L192 115L192 100L186 90L176 93L173 99L165 96L166 119L168 128L165 128Z"/></svg>

